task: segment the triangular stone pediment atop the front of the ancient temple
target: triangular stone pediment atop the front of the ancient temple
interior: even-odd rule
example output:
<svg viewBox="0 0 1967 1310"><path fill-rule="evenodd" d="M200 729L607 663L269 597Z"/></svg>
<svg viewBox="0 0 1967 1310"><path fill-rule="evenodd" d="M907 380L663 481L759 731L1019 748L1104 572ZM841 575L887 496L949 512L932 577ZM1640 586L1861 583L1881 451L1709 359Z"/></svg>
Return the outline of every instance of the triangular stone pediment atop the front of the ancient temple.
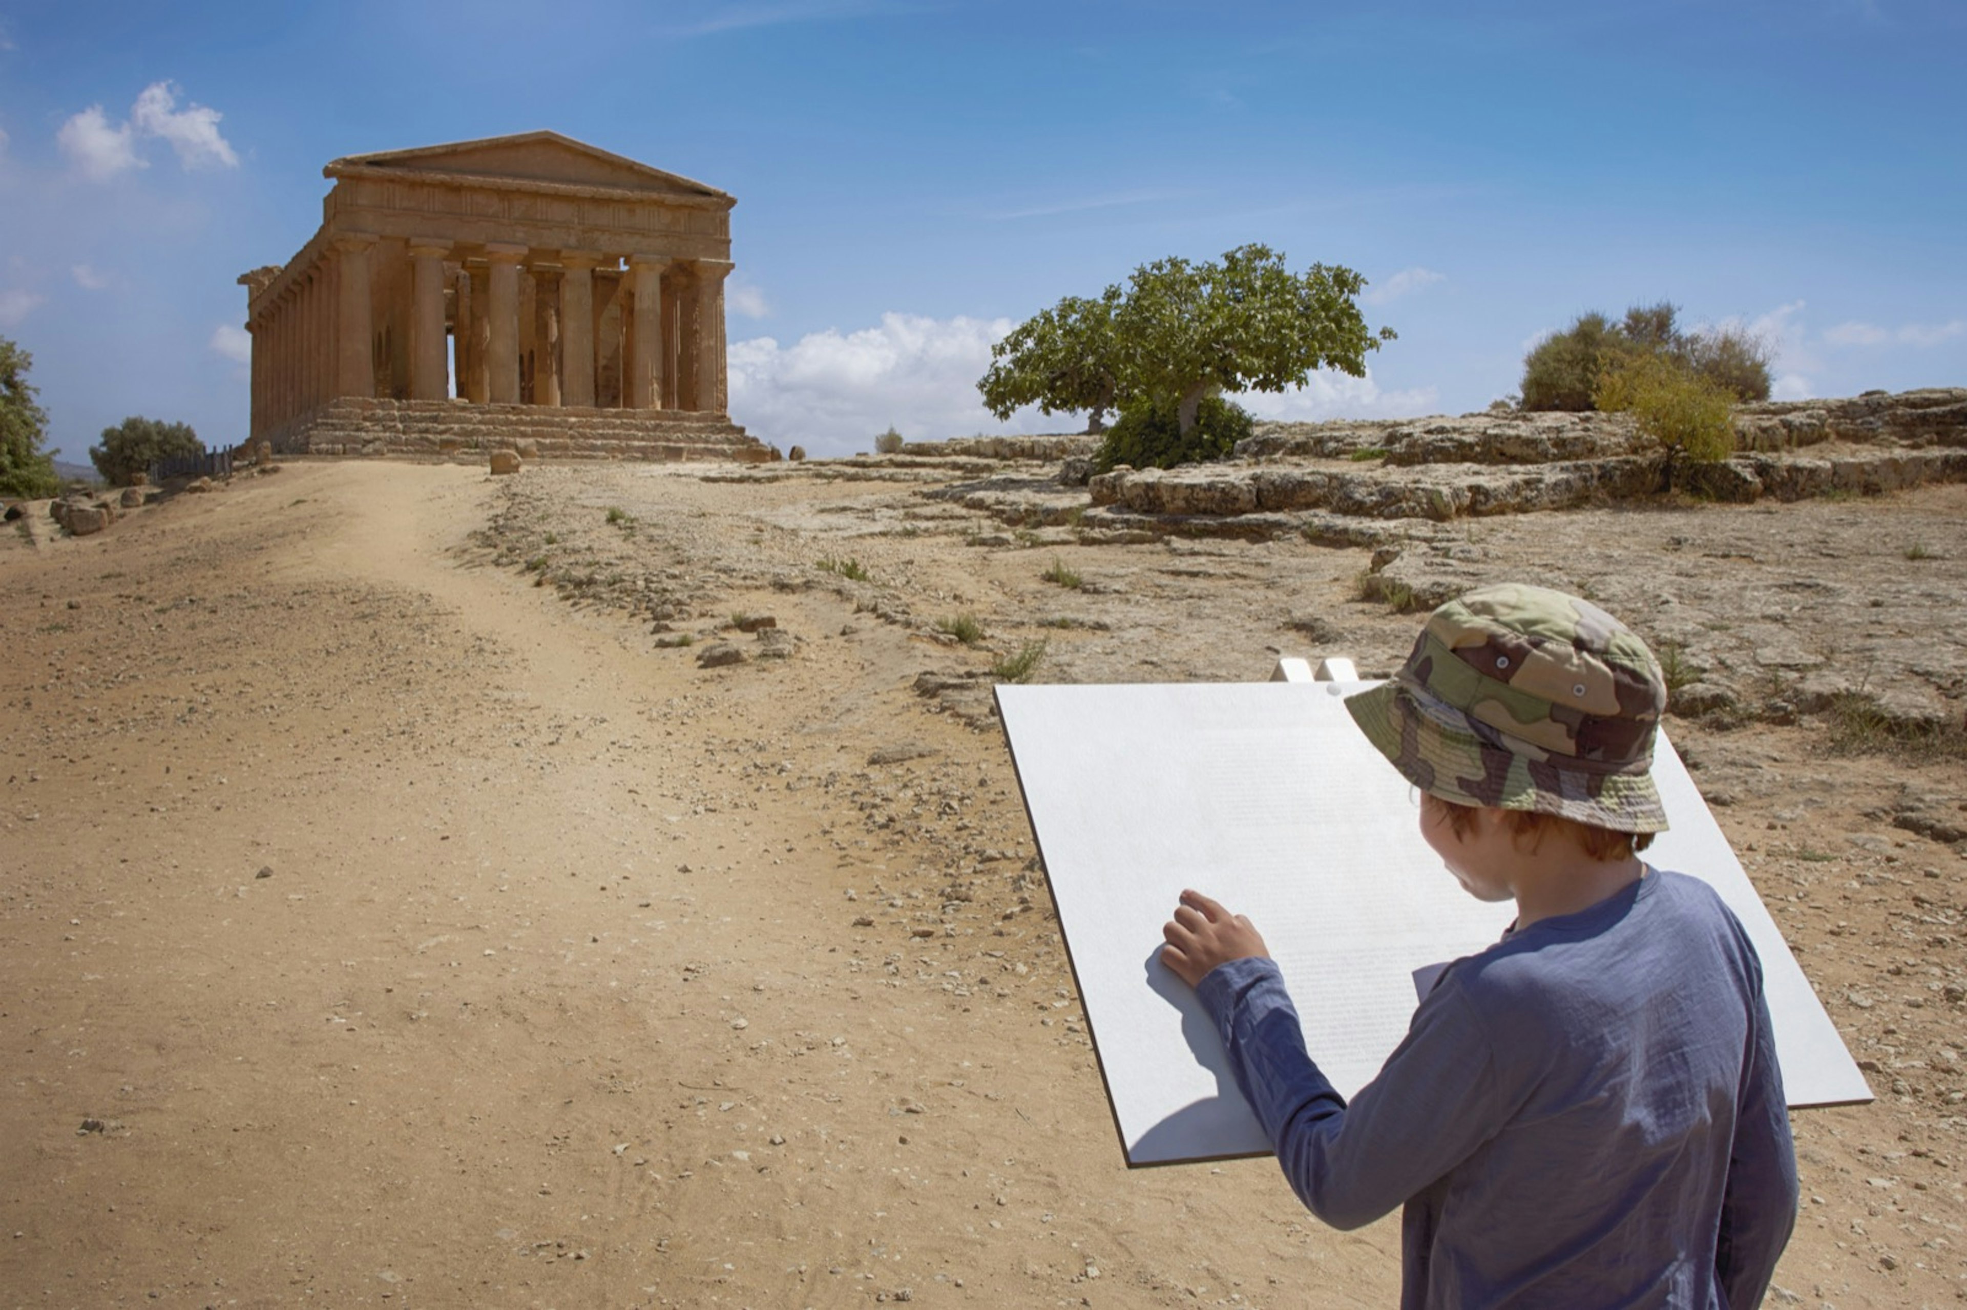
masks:
<svg viewBox="0 0 1967 1310"><path fill-rule="evenodd" d="M633 191L651 199L730 197L716 187L679 177L610 153L559 132L521 132L492 136L478 142L450 142L417 149L389 149L370 155L346 155L323 169L325 177L417 177L452 181L545 183L549 187L602 187Z"/></svg>

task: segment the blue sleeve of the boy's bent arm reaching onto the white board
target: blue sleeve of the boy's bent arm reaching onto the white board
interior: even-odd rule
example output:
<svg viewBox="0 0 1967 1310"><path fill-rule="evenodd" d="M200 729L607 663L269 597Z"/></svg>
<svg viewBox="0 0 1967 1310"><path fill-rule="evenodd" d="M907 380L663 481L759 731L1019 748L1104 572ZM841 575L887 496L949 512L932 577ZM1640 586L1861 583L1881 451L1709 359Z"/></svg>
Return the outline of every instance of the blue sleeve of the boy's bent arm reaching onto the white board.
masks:
<svg viewBox="0 0 1967 1310"><path fill-rule="evenodd" d="M1428 997L1351 1105L1304 1050L1277 964L1241 958L1196 987L1290 1188L1334 1227L1371 1223L1465 1161L1503 1121L1489 1044L1460 989Z"/></svg>

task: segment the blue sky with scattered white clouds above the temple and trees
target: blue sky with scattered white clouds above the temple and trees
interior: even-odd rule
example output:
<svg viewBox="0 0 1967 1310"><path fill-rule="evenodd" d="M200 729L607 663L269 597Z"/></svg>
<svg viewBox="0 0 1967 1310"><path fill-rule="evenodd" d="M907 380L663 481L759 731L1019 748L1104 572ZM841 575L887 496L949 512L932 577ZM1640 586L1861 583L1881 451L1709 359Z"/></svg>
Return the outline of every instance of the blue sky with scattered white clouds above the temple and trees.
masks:
<svg viewBox="0 0 1967 1310"><path fill-rule="evenodd" d="M234 277L323 163L553 128L738 197L732 409L816 454L993 431L1013 323L1243 242L1401 334L1259 413L1477 409L1654 299L1766 334L1782 395L1959 386L1963 124L1957 0L0 0L0 334L69 458L130 413L234 443Z"/></svg>

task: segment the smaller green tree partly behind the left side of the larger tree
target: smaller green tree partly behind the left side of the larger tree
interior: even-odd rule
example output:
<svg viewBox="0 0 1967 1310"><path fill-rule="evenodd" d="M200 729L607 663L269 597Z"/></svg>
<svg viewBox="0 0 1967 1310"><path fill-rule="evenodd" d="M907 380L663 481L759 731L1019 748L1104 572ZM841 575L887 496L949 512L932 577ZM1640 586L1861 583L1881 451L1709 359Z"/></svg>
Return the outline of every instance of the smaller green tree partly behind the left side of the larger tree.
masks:
<svg viewBox="0 0 1967 1310"><path fill-rule="evenodd" d="M1113 309L1119 287L1098 299L1068 295L1052 309L1025 319L991 346L991 366L978 382L984 405L999 419L1037 405L1041 413L1086 411L1086 431L1102 431L1119 391L1119 356Z"/></svg>

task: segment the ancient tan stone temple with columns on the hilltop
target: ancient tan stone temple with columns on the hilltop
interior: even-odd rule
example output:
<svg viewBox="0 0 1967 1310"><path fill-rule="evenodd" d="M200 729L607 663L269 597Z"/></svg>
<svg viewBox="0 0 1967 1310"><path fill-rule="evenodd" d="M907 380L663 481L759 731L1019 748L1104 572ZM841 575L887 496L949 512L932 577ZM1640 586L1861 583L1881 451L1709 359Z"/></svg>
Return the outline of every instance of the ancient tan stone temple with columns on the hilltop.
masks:
<svg viewBox="0 0 1967 1310"><path fill-rule="evenodd" d="M323 175L321 230L240 277L256 447L767 456L726 413L724 191L557 132Z"/></svg>

